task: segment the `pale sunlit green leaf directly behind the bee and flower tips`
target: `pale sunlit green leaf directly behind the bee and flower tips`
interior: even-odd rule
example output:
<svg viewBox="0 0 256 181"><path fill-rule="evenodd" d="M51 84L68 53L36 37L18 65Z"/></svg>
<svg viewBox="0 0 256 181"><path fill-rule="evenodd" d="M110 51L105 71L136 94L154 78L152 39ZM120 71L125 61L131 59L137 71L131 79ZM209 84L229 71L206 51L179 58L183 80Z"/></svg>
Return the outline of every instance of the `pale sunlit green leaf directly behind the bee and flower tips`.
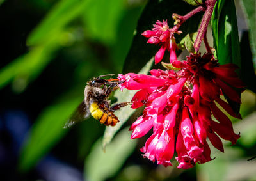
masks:
<svg viewBox="0 0 256 181"><path fill-rule="evenodd" d="M153 61L154 58L150 59L150 61L148 61L145 67L143 67L138 74L147 74L148 71L150 70L150 67L152 66ZM114 96L117 98L117 102L130 102L132 97L134 96L134 93L136 93L136 90L116 90ZM115 112L115 115L118 117L120 122L115 127L106 127L102 141L103 148L105 148L106 145L108 145L111 142L116 132L122 127L122 125L124 125L124 123L134 112L135 109L131 109L129 106L122 107L120 111Z"/></svg>

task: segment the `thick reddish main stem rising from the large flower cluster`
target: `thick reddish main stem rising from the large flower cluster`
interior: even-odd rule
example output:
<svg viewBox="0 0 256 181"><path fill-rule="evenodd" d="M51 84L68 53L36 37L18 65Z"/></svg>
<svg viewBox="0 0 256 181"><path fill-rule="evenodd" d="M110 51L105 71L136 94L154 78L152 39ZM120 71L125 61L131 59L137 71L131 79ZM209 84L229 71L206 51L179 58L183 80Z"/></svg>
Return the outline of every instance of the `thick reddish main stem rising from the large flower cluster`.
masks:
<svg viewBox="0 0 256 181"><path fill-rule="evenodd" d="M203 40L203 38L205 36L205 33L207 31L207 26L209 24L209 21L211 20L212 12L213 12L214 5L215 5L216 1L217 0L206 0L205 1L205 5L206 5L207 8L205 10L205 13L204 13L202 22L200 24L200 27L198 29L198 34L196 36L196 40L195 40L195 43L194 43L194 48L195 48L196 52L198 52L198 50L200 48L200 45L202 43L202 40Z"/></svg>

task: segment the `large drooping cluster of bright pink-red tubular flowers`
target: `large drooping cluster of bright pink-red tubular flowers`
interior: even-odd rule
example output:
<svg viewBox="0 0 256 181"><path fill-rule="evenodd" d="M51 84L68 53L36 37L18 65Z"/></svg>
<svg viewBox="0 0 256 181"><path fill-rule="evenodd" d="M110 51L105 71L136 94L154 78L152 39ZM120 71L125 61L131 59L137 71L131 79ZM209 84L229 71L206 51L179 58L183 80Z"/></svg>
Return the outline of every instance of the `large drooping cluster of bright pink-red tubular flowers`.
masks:
<svg viewBox="0 0 256 181"><path fill-rule="evenodd" d="M160 34L154 35L156 41L161 39L157 39ZM220 137L236 143L240 136L234 133L232 122L216 103L231 116L241 118L220 95L225 93L241 104L231 86L243 88L244 84L237 77L236 65L219 65L211 53L191 54L186 61L172 61L172 66L180 70L151 70L151 75L119 74L118 79L123 82L121 90L139 90L132 98L132 108L145 105L143 115L131 125L131 139L153 129L141 148L143 156L171 166L176 150L178 168L187 169L212 160L207 138L221 152L224 149ZM217 121L212 120L212 115Z"/></svg>

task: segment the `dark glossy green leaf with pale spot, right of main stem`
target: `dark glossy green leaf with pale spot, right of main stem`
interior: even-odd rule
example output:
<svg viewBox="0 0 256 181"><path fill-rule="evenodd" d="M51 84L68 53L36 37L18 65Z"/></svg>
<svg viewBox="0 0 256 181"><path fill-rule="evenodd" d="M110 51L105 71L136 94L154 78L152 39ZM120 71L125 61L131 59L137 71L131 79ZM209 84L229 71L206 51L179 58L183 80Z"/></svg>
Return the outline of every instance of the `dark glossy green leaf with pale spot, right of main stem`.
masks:
<svg viewBox="0 0 256 181"><path fill-rule="evenodd" d="M225 7L225 8L223 8ZM212 35L216 56L221 64L234 63L241 67L239 36L237 30L236 7L234 1L217 1L212 13ZM240 75L241 72L237 71ZM235 88L234 88L235 89ZM241 93L240 89L235 89ZM235 111L239 113L240 104L225 98Z"/></svg>

